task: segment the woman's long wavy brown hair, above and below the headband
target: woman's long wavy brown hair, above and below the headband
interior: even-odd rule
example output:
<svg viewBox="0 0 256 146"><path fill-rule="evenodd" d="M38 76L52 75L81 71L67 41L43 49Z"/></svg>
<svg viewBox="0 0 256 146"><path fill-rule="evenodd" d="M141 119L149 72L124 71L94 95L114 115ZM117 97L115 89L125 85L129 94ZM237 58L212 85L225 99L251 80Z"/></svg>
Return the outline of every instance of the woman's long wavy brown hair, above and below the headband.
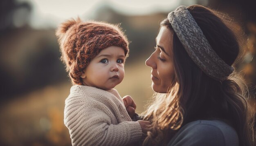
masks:
<svg viewBox="0 0 256 146"><path fill-rule="evenodd" d="M213 50L228 65L234 66L241 57L241 47L231 19L200 5L190 6L188 10ZM166 145L189 122L221 119L236 130L239 146L253 146L254 113L248 104L249 93L243 77L234 72L223 82L213 80L191 60L168 19L160 25L174 33L175 79L168 93L153 95L153 102L143 113L144 119L152 122L144 145Z"/></svg>

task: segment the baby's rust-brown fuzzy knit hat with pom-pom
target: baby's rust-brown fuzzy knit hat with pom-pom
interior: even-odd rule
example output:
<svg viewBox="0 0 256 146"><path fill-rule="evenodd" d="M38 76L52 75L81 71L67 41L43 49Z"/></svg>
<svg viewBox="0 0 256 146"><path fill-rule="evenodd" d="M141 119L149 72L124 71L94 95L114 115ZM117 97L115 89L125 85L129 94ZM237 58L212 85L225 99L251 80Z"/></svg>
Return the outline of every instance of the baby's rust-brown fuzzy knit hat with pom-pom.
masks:
<svg viewBox="0 0 256 146"><path fill-rule="evenodd" d="M103 49L119 46L128 57L128 40L118 25L105 22L82 22L80 18L63 22L56 30L61 60L73 84L82 85L81 74Z"/></svg>

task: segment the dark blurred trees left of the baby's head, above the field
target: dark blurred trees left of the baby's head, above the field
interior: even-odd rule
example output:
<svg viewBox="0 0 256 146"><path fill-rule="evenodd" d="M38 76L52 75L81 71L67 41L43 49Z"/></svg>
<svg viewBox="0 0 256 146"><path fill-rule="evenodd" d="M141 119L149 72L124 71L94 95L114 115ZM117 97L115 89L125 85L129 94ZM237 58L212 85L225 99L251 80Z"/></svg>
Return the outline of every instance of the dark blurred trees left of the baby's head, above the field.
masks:
<svg viewBox="0 0 256 146"><path fill-rule="evenodd" d="M29 27L28 2L0 4L0 100L67 80L54 29Z"/></svg>

